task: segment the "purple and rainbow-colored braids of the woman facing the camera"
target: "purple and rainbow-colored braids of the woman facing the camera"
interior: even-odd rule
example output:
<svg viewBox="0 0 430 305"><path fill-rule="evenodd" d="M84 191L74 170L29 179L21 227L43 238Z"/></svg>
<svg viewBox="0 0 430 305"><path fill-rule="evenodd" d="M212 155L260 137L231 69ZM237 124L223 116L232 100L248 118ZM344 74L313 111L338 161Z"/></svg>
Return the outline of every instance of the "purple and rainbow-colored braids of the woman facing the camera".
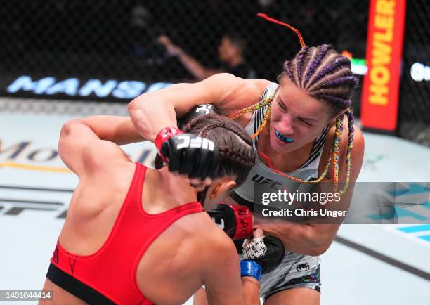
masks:
<svg viewBox="0 0 430 305"><path fill-rule="evenodd" d="M297 86L297 88L305 90L311 97L326 103L330 107L331 116L337 115L342 110L346 110L345 115L348 117L348 148L346 152L346 181L344 188L340 191L340 193L343 194L348 188L351 176L354 116L350 105L353 89L358 84L358 79L354 77L351 72L351 61L348 58L341 56L328 44L320 46L306 46L299 31L291 25L287 25L286 23L270 18L266 14L259 13L258 15L270 22L289 27L294 30L299 37L301 50L292 60L285 61L282 66L282 74L279 79L288 77L292 83ZM252 112L268 105L260 128L254 135L252 135L252 138L255 138L268 122L273 98L274 96L272 95L259 103L243 108L242 110L233 113L233 115L230 115L230 118L234 119L243 113ZM342 115L339 115L339 117L336 118L336 131L332 148L330 150L325 170L318 179L315 181L303 181L296 177L283 174L280 171L274 171L278 172L282 176L301 183L319 183L320 181L323 181L327 175L330 164L333 164L333 182L335 189L337 189L339 181L339 150L345 115L342 113ZM268 160L266 155L263 155L263 157ZM271 166L270 160L268 160L268 163Z"/></svg>

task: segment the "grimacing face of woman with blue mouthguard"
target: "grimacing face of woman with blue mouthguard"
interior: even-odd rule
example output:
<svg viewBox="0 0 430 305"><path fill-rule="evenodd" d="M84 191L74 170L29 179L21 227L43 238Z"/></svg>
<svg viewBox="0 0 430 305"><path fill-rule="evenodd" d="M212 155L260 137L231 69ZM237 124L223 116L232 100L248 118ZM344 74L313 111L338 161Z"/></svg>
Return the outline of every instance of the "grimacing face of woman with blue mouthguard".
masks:
<svg viewBox="0 0 430 305"><path fill-rule="evenodd" d="M272 102L270 143L279 152L292 152L318 138L330 122L325 103L283 77Z"/></svg>

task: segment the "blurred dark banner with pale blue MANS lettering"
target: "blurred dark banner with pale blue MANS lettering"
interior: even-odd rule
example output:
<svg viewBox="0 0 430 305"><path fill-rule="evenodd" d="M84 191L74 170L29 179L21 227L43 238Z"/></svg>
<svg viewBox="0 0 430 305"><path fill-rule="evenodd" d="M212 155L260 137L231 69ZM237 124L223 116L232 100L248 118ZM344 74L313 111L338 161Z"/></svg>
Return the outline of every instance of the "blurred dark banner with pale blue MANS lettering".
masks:
<svg viewBox="0 0 430 305"><path fill-rule="evenodd" d="M130 101L143 93L170 86L169 82L133 79L13 75L0 79L0 93L6 96L76 100Z"/></svg>

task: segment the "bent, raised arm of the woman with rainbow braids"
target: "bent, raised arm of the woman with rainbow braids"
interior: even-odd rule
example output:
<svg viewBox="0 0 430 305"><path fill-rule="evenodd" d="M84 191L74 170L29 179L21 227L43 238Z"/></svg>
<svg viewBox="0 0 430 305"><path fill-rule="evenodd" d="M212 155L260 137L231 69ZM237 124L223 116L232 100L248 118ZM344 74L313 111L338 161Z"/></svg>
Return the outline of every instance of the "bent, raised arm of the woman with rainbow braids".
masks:
<svg viewBox="0 0 430 305"><path fill-rule="evenodd" d="M166 126L176 126L197 105L214 104L229 115L258 101L268 81L241 79L233 74L215 74L195 84L174 84L166 89L145 93L129 103L133 125L143 138L154 142Z"/></svg>

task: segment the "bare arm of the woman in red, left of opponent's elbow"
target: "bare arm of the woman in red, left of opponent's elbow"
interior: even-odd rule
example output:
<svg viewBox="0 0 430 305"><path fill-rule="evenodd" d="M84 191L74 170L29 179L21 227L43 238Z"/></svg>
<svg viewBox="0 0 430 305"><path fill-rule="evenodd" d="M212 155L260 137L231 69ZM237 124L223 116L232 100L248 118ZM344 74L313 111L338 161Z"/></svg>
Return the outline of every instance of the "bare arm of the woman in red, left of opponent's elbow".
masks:
<svg viewBox="0 0 430 305"><path fill-rule="evenodd" d="M85 117L77 122L88 126L98 138L105 141L124 145L145 141L131 122L129 117L98 115Z"/></svg>

